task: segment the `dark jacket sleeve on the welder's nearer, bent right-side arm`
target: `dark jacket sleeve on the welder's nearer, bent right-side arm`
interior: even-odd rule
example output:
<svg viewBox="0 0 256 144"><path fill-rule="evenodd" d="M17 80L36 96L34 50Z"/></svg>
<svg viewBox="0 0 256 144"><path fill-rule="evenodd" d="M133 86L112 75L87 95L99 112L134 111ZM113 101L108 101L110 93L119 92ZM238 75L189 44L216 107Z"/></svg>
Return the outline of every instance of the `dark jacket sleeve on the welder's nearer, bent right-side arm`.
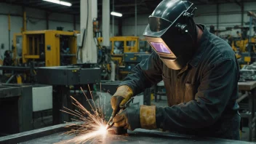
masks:
<svg viewBox="0 0 256 144"><path fill-rule="evenodd" d="M156 108L156 127L168 130L200 129L211 126L225 110L237 89L239 71L231 59L207 66L195 97L188 103Z"/></svg>

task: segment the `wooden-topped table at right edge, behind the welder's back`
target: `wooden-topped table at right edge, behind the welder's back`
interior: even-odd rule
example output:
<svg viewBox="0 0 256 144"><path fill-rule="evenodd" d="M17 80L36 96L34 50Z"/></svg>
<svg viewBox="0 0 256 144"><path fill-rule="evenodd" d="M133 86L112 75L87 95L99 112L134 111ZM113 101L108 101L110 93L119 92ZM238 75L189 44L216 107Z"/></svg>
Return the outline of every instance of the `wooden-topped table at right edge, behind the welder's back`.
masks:
<svg viewBox="0 0 256 144"><path fill-rule="evenodd" d="M239 82L239 91L245 92L244 95L239 97L237 100L238 103L244 98L248 97L248 105L245 105L245 109L248 109L250 113L241 113L242 118L249 119L249 141L252 141L253 132L255 132L255 97L256 97L256 81L246 81L246 82ZM255 132L256 135L256 132Z"/></svg>

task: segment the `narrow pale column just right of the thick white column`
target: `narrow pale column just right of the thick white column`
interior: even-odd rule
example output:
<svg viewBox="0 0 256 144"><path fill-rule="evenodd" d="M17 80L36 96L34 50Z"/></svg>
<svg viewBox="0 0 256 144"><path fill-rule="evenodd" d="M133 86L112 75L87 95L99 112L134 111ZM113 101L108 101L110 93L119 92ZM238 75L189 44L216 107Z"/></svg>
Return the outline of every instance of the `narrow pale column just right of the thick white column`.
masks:
<svg viewBox="0 0 256 144"><path fill-rule="evenodd" d="M103 46L110 47L110 20L111 20L111 12L110 12L110 0L103 1Z"/></svg>

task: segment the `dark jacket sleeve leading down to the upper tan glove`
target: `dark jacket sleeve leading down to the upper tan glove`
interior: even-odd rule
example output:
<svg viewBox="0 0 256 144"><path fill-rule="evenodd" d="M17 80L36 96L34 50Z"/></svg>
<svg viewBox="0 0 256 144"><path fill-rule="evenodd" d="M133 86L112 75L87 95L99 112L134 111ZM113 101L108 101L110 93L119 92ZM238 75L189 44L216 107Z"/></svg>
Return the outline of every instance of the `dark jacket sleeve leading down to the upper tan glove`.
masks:
<svg viewBox="0 0 256 144"><path fill-rule="evenodd" d="M152 52L148 59L142 60L135 68L132 68L119 86L127 85L132 89L133 94L137 95L162 80L162 65L156 52Z"/></svg>

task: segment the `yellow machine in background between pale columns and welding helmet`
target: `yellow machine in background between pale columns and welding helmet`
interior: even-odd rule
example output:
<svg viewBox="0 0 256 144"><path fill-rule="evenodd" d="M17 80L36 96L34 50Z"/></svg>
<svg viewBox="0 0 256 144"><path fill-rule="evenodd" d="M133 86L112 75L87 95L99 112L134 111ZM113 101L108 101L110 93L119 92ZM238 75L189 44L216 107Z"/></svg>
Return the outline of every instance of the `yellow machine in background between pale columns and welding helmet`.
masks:
<svg viewBox="0 0 256 144"><path fill-rule="evenodd" d="M99 45L102 45L103 38L99 37L97 41ZM114 68L116 71L116 79L123 79L137 63L147 58L152 52L148 41L140 39L137 36L114 36L111 37L110 41L111 52L109 56L111 60L108 61L116 65L116 68ZM101 60L100 62L103 61ZM110 62L103 67L103 76L106 77L109 75L109 73L107 74L106 72L111 71L111 67L113 67L113 64L111 65Z"/></svg>

